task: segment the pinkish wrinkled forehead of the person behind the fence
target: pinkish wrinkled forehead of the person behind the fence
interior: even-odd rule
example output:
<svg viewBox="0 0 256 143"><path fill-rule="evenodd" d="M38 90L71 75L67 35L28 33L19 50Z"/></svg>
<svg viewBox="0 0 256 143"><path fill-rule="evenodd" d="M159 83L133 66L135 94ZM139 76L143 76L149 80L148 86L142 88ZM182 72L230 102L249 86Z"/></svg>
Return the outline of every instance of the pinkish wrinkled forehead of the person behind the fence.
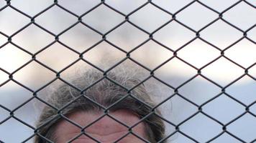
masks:
<svg viewBox="0 0 256 143"><path fill-rule="evenodd" d="M123 124L116 122L116 120L109 116L102 117L102 114L103 113L101 112L74 112L68 116L68 119L72 122L76 122L76 124L79 124L81 127L86 127L88 124L94 122L84 129L84 131L86 134L89 134L96 139L104 139L105 137L107 139L118 139L129 133L129 127L124 126L124 124L132 126L137 122L140 122L139 117L124 109L117 110L116 112L109 112L111 116L118 119L119 122L122 122ZM145 124L143 122L132 128L132 132L139 134L143 138L147 137L145 134ZM76 127L66 120L59 122L55 130L55 137L57 140L65 139L65 142L79 134L81 134L81 128Z"/></svg>

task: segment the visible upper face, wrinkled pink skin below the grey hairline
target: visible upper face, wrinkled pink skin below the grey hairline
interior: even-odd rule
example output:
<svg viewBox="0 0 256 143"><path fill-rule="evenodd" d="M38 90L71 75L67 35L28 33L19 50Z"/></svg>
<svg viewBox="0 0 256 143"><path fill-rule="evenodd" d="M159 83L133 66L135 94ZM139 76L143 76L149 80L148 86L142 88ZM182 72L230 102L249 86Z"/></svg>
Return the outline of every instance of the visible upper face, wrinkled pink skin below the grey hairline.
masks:
<svg viewBox="0 0 256 143"><path fill-rule="evenodd" d="M109 113L119 121L127 124L128 126L132 126L133 124L139 122L139 117L128 112L126 110L118 110L116 112ZM101 116L100 113L93 112L75 112L70 114L68 118L73 122L85 127L87 124L95 121ZM97 139L99 142L110 143L115 142L117 139L123 137L127 134L128 128L124 127L124 125L114 121L110 117L103 117L96 123L92 124L90 127L85 129L85 132L89 134L91 137ZM140 123L136 127L132 128L132 132L139 135L140 137L147 139L147 134L145 134L145 124ZM76 127L75 125L67 122L65 120L58 123L55 129L55 137L56 142L64 143L68 142L70 139L73 139L78 134L81 134L81 129ZM96 142L90 137L86 135L82 135L75 139L73 143L93 143ZM127 135L123 139L119 141L120 143L142 143L143 141L132 134Z"/></svg>

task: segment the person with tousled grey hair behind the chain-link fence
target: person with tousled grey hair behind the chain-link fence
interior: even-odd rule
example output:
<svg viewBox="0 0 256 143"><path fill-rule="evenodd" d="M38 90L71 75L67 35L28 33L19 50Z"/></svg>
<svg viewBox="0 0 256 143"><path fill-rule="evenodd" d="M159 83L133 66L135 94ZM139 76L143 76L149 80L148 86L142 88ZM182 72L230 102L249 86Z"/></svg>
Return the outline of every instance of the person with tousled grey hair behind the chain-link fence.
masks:
<svg viewBox="0 0 256 143"><path fill-rule="evenodd" d="M90 69L72 86L56 87L37 122L35 143L159 142L165 126L140 81L132 69L106 75Z"/></svg>

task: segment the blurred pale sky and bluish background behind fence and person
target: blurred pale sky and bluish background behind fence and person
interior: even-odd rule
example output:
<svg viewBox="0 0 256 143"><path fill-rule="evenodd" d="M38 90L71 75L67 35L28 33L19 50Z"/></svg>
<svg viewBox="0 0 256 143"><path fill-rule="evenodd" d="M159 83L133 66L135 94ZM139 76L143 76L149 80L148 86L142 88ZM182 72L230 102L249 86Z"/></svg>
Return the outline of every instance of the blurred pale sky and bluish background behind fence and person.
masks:
<svg viewBox="0 0 256 143"><path fill-rule="evenodd" d="M106 0L105 4L108 6L124 15L129 14L130 23L122 24L125 20L124 15L104 4L99 5L101 1L96 0L59 0L59 6L52 5L54 1L12 0L10 1L11 6L6 8L6 1L0 0L0 105L11 111L14 110L14 116L17 119L35 127L35 120L40 114L40 104L42 105L42 103L38 103L37 99L29 100L33 97L32 92L16 82L9 81L2 84L9 79L9 75L1 69L12 73L28 63L32 59L31 54L36 54L49 46L38 52L36 59L52 70L60 71L79 58L78 52L88 50L101 41L102 34L107 33L106 40L109 42L102 41L93 49L86 51L83 54L83 59L106 70L124 59L125 51L132 50L130 57L145 68L152 70L173 57L173 51L178 50L178 58L170 59L163 66L157 68L154 73L155 77L163 82L174 88L178 87L178 93L181 96L175 94L168 99L175 93L174 90L157 79L150 79L151 82L157 84L157 88L152 90L155 93L153 94L155 101L160 103L168 99L159 107L163 112L163 117L176 125L183 123L179 126L180 131L193 137L197 142L207 142L223 132L221 124L202 113L183 122L198 112L199 106L203 105L202 111L222 124L227 124L243 114L242 117L227 126L227 131L244 142L252 142L256 139L256 104L253 104L256 101L256 66L253 66L256 62L256 1L240 1L232 9L228 9L237 1L201 0L201 3L219 13L224 11L222 19L233 25L230 26L227 22L219 19L205 29L202 28L218 19L219 14L207 9L197 1L193 4L191 2L191 0L155 0L152 1L152 4L146 4L145 0ZM144 6L144 4L146 5ZM180 11L187 4L191 5ZM98 7L86 13L94 6ZM143 6L142 9L131 13L140 6ZM27 16L14 9L24 12ZM44 12L41 14L41 11ZM71 11L73 14L67 11ZM172 19L168 13L177 13L175 14L177 21L171 21L164 25ZM83 15L81 21L84 24L77 24L78 17L76 15ZM35 23L37 25L29 24L31 19L28 16L36 16ZM73 24L76 26L68 29ZM121 25L109 32L119 24ZM26 27L24 28L24 26ZM45 30L40 29L39 26ZM88 26L96 29L97 32ZM161 29L159 29L160 27ZM20 29L22 31L19 31ZM248 29L249 31L247 31ZM196 38L195 31L199 30L201 39ZM17 31L19 32L17 33ZM242 39L243 31L247 31L248 39ZM152 32L154 40L149 39L149 34ZM54 35L59 35L60 42L52 44L55 41ZM10 40L8 36L12 36L12 43L8 43ZM139 48L134 49L140 44L142 45ZM221 56L221 50L230 45L232 46L224 51L224 55L230 60L223 56L217 59ZM19 46L27 52L19 49ZM68 49L66 46L76 51ZM180 47L183 48L180 49ZM213 63L205 66L214 59L216 60ZM102 61L108 61L109 65L103 66ZM130 59L124 62L139 66ZM69 81L70 75L86 67L90 67L90 65L85 61L78 61L60 75ZM139 67L145 70L147 76L150 76L150 71L142 66ZM201 67L204 67L201 69L203 76L194 77L198 73L196 69ZM244 69L247 68L249 68L247 70L249 75L244 74ZM192 77L194 78L187 82ZM33 91L37 91L54 78L53 71L36 61L29 62L13 74L13 79ZM183 84L184 82L186 84ZM180 87L180 85L182 86ZM221 94L221 87L227 87L225 88L227 94ZM43 99L48 88L50 87L40 89L38 97ZM216 98L213 99L214 97ZM209 99L213 100L207 102ZM27 104L22 105L28 100ZM205 104L206 102L207 104ZM249 108L251 114L245 113L245 107L249 105L251 105ZM1 142L23 142L32 136L34 130L17 119L10 118L6 122L1 122L9 115L9 111L0 107ZM167 136L175 132L175 127L171 124L166 122L166 126L168 127ZM27 142L32 142L32 139ZM242 142L239 139L224 133L212 142ZM177 132L168 139L168 142L189 143L193 140Z"/></svg>

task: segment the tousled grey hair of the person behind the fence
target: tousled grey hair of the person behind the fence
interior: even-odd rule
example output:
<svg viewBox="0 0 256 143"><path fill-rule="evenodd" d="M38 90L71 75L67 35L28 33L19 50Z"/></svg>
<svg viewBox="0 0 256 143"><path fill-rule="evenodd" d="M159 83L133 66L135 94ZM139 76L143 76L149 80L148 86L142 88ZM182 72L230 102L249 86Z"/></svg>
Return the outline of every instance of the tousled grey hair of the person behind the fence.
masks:
<svg viewBox="0 0 256 143"><path fill-rule="evenodd" d="M56 124L63 119L60 114L66 116L77 111L104 111L102 107L109 106L111 106L109 111L127 109L137 114L140 119L144 117L148 141L159 142L164 137L165 125L162 119L157 117L157 114L161 115L160 111L152 109L155 103L152 102L145 86L140 84L141 81L142 72L136 68L116 67L106 75L96 69L86 69L81 75L76 75L76 78L72 79L71 83L76 88L68 84L60 84L47 98L47 103L56 109L45 106L36 123L35 143L45 143L46 139L55 141Z"/></svg>

